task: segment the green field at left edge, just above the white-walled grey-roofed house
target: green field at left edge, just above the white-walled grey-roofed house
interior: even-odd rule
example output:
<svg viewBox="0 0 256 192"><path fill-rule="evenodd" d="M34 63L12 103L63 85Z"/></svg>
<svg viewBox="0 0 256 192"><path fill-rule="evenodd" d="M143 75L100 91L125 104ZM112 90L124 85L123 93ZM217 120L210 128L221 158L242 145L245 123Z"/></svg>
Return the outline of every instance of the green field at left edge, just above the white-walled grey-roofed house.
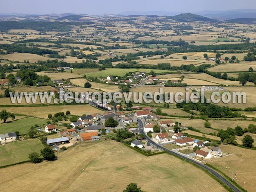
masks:
<svg viewBox="0 0 256 192"><path fill-rule="evenodd" d="M46 123L46 119L39 119L34 117L28 117L13 122L2 123L0 124L0 134L12 133L15 131L20 131L20 134L27 134L31 126L34 126L35 124L43 125Z"/></svg>

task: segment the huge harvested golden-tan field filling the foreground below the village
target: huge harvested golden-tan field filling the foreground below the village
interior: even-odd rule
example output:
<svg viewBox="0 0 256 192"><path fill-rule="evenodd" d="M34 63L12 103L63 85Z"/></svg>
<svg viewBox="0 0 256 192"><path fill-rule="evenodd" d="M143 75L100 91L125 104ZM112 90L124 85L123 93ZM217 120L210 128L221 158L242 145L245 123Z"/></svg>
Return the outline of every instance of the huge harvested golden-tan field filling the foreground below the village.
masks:
<svg viewBox="0 0 256 192"><path fill-rule="evenodd" d="M28 183L32 182L32 191L99 189L117 192L133 182L144 191L186 191L188 188L192 191L226 191L212 177L185 161L168 154L145 157L111 140L82 143L57 156L58 160L53 162L25 163L0 169L0 175L5 175L0 181L1 189L15 190L18 187L19 191L26 191ZM173 165L180 170L178 173ZM42 175L44 180L41 179ZM100 182L102 180L104 182Z"/></svg>

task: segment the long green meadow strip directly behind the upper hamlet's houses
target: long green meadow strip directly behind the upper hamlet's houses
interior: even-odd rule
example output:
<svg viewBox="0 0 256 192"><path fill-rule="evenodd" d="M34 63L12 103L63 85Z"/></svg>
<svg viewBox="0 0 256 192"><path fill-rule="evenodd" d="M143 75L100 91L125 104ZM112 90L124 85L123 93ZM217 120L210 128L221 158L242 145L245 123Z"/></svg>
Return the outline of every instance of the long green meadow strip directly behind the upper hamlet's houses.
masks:
<svg viewBox="0 0 256 192"><path fill-rule="evenodd" d="M146 72L149 73L151 69L106 69L99 71L98 69L75 69L73 73L79 73L81 75L86 75L87 77L107 77L107 76L125 76L129 72ZM168 70L154 70L155 73L167 73L172 72Z"/></svg>

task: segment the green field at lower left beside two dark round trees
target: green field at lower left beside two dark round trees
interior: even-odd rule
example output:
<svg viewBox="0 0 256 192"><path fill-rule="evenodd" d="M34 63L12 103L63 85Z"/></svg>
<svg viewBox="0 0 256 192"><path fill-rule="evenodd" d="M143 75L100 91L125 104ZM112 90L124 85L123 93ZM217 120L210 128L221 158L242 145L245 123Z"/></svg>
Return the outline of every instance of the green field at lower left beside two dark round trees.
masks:
<svg viewBox="0 0 256 192"><path fill-rule="evenodd" d="M43 148L38 139L24 140L0 145L0 166L29 160L31 152L39 152Z"/></svg>

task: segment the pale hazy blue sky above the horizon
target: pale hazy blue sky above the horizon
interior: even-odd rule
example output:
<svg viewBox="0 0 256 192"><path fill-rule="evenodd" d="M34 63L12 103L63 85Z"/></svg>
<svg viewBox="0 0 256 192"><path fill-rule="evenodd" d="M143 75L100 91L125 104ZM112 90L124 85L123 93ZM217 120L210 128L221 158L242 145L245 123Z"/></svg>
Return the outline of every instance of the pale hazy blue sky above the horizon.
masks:
<svg viewBox="0 0 256 192"><path fill-rule="evenodd" d="M0 14L101 15L126 11L198 12L231 9L256 9L256 2L255 0L0 0Z"/></svg>

